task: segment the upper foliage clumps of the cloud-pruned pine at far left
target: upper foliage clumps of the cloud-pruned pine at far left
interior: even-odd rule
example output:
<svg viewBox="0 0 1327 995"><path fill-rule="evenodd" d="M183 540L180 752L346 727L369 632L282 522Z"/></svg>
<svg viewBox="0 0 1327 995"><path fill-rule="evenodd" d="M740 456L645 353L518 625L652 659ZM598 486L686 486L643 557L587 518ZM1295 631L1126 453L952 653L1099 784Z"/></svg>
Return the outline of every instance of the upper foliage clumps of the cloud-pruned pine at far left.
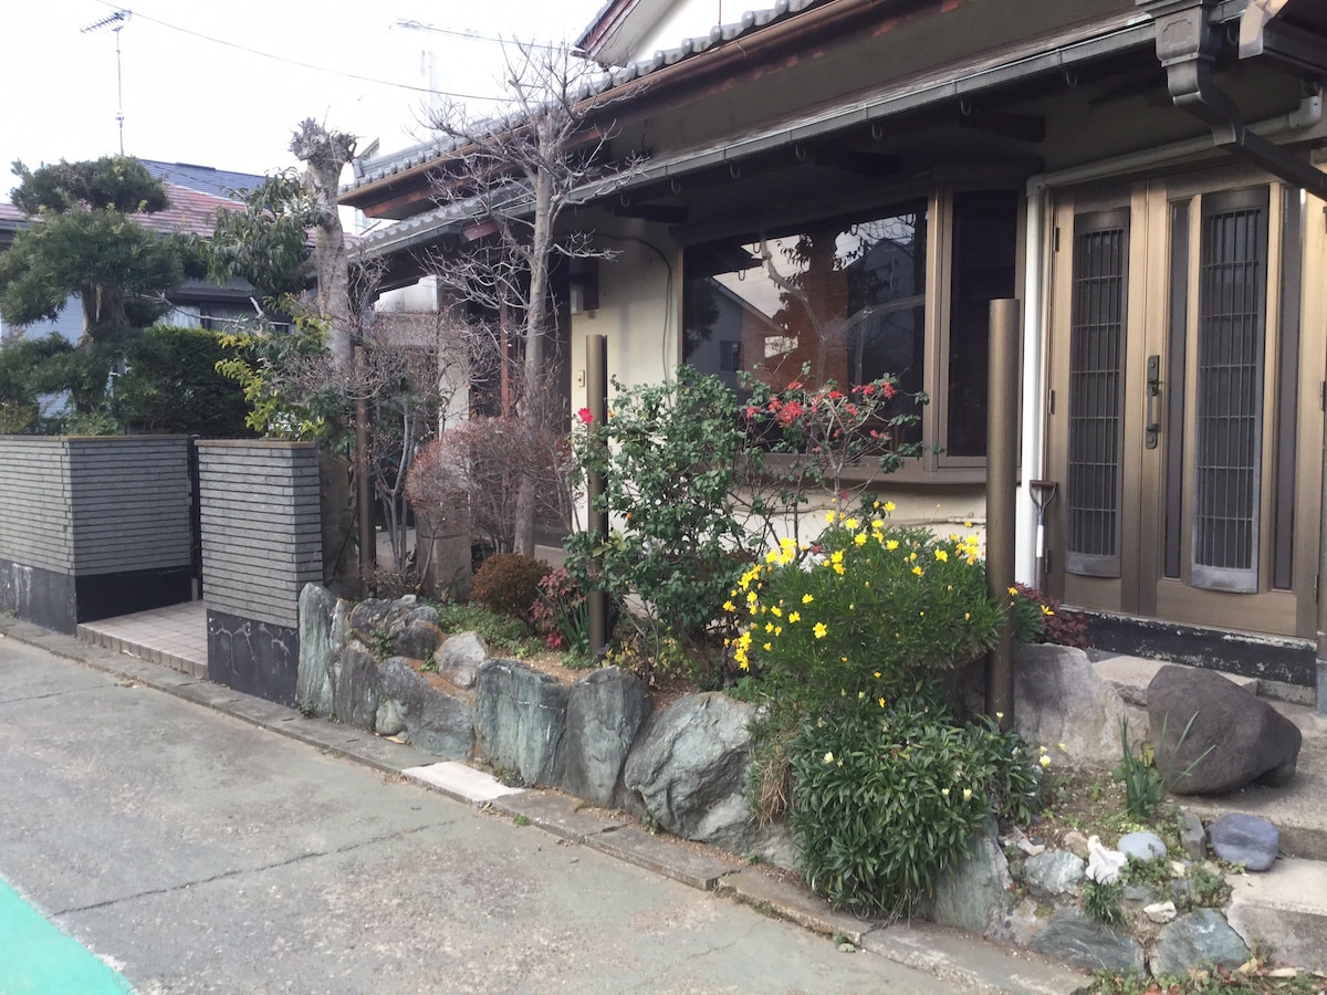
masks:
<svg viewBox="0 0 1327 995"><path fill-rule="evenodd" d="M13 165L13 203L32 224L0 256L0 314L15 325L53 320L77 295L82 341L121 338L169 310L166 292L198 272L196 245L162 236L131 214L169 206L166 190L126 157L41 166Z"/></svg>

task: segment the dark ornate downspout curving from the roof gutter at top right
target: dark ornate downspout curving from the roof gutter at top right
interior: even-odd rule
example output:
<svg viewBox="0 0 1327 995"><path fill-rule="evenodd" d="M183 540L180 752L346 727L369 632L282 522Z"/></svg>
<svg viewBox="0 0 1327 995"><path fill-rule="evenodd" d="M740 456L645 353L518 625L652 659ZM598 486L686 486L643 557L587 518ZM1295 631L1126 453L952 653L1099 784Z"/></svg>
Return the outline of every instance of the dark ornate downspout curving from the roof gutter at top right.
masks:
<svg viewBox="0 0 1327 995"><path fill-rule="evenodd" d="M1254 133L1235 102L1213 81L1212 69L1221 50L1221 25L1213 24L1210 16L1214 0L1137 3L1156 21L1157 58L1165 66L1174 106L1204 121L1218 149L1227 149L1314 196L1327 198L1327 174ZM1322 94L1307 93L1292 117L1312 123L1315 115L1322 115Z"/></svg>

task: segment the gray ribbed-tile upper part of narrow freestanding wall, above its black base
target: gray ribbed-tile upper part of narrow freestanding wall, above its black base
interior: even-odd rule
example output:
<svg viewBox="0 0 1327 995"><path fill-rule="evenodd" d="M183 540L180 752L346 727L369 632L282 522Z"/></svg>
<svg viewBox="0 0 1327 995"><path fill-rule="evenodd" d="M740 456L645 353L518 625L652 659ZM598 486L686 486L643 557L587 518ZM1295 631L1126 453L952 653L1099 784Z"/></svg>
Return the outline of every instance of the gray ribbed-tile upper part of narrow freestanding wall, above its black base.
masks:
<svg viewBox="0 0 1327 995"><path fill-rule="evenodd" d="M198 443L208 609L297 629L322 580L318 454L267 439Z"/></svg>

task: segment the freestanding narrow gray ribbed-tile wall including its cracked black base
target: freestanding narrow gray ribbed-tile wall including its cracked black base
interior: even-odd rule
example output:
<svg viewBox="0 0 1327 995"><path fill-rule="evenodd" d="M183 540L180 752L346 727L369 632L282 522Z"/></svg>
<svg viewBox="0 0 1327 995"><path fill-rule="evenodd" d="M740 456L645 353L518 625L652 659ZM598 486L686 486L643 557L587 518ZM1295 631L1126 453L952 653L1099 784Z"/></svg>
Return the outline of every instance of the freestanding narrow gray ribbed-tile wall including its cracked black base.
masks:
<svg viewBox="0 0 1327 995"><path fill-rule="evenodd" d="M295 703L300 590L322 578L312 443L199 442L207 674Z"/></svg>

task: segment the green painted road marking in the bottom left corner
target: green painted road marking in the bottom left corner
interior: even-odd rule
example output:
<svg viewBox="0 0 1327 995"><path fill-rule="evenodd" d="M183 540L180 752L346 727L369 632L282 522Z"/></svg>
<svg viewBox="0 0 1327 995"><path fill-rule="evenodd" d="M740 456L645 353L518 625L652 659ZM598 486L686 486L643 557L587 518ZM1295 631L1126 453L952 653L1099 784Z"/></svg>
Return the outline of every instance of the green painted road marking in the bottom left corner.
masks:
<svg viewBox="0 0 1327 995"><path fill-rule="evenodd" d="M0 878L0 992L126 995L122 975L46 922Z"/></svg>

